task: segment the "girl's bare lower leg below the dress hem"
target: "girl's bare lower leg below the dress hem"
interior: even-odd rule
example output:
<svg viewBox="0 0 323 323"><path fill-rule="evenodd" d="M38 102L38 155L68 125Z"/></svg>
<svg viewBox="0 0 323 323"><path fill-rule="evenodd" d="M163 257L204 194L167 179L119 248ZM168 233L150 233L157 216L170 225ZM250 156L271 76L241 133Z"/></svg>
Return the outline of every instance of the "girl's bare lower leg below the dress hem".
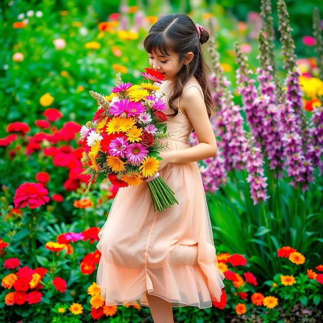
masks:
<svg viewBox="0 0 323 323"><path fill-rule="evenodd" d="M172 303L155 295L149 295L148 293L146 295L153 322L174 323Z"/></svg>

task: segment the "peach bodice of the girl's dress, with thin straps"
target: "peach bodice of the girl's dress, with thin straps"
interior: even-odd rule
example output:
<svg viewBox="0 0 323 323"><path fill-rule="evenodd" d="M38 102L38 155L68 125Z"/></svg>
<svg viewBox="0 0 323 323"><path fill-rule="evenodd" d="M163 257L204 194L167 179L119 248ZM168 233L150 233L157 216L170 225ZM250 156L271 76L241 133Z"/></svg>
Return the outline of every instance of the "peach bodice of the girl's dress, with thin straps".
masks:
<svg viewBox="0 0 323 323"><path fill-rule="evenodd" d="M156 84L156 85L158 86L158 84ZM203 94L201 86L195 82L194 83L188 82L187 84L185 84L185 86L183 88L183 92L191 86L197 87L201 91L202 96L204 98L204 94ZM156 91L156 93L162 94L163 90L159 89L158 91ZM173 111L170 109L170 107L168 105L168 97L169 97L169 95L161 97L161 99L166 104L167 109L166 109L166 111L164 111L164 113L166 113L166 115L173 114ZM170 139L187 142L188 138L193 130L193 126L192 126L189 118L186 115L184 115L184 113L179 109L180 97L174 101L174 103L178 107L178 114L175 117L168 117L169 120L165 121L164 123L167 124L167 133L170 134L170 136L171 136Z"/></svg>

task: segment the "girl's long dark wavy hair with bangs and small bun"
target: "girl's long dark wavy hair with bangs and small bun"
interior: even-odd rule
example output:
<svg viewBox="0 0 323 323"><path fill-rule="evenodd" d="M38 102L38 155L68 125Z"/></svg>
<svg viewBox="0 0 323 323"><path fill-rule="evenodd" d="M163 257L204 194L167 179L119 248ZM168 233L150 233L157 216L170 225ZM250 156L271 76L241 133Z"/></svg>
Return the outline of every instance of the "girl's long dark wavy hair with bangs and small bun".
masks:
<svg viewBox="0 0 323 323"><path fill-rule="evenodd" d="M175 117L178 109L173 102L182 94L183 87L187 81L194 76L201 85L204 93L204 102L208 117L211 116L213 102L210 94L206 68L210 71L203 60L200 44L204 44L209 38L207 30L202 30L198 37L194 22L187 15L176 13L158 17L158 20L151 26L147 37L144 40L144 48L147 52L156 53L156 48L163 55L170 55L168 49L178 54L179 63L185 63L189 51L194 53L190 63L184 64L179 71L177 80L169 97L169 106ZM194 131L194 129L193 129Z"/></svg>

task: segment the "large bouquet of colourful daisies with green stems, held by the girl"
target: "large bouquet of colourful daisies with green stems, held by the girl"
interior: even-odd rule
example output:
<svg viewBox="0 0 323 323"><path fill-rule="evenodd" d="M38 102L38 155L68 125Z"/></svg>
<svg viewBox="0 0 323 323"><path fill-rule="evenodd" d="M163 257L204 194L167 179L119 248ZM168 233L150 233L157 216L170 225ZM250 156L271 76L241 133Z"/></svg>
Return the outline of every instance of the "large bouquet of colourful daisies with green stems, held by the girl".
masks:
<svg viewBox="0 0 323 323"><path fill-rule="evenodd" d="M160 143L169 138L166 133L168 120L166 105L155 91L160 89L153 85L161 83L164 75L145 68L143 75L146 82L133 85L123 83L120 73L116 75L116 86L109 95L103 96L89 91L97 101L98 107L92 121L82 126L80 139L84 146L82 165L91 178L85 193L93 180L102 182L109 178L119 187L140 185L145 181L151 195L154 211L179 202L174 191L159 176L158 156L167 144Z"/></svg>

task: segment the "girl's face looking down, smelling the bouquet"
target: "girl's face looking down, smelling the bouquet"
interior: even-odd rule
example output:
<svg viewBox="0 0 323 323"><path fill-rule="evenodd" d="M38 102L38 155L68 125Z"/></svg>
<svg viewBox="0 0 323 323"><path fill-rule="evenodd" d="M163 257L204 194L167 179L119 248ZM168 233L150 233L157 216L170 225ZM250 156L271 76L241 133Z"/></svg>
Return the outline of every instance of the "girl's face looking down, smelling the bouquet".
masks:
<svg viewBox="0 0 323 323"><path fill-rule="evenodd" d="M170 56L164 56L157 48L156 53L149 54L149 64L157 72L164 74L164 80L175 81L178 72L182 69L183 64L178 63L178 55L170 52Z"/></svg>

